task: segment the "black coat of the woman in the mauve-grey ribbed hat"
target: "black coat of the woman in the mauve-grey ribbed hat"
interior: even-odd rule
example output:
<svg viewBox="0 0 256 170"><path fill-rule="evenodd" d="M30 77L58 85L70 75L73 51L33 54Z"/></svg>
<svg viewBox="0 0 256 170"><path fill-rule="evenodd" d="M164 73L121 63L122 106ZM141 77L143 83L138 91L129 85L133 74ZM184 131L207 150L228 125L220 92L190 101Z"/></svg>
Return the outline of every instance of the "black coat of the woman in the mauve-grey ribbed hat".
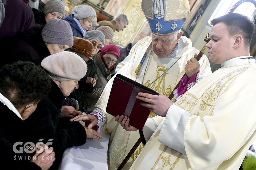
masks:
<svg viewBox="0 0 256 170"><path fill-rule="evenodd" d="M31 61L40 65L42 60L51 55L42 39L43 26L37 25L24 33L8 36L0 40L0 48L8 55L2 56L0 67L7 63Z"/></svg>

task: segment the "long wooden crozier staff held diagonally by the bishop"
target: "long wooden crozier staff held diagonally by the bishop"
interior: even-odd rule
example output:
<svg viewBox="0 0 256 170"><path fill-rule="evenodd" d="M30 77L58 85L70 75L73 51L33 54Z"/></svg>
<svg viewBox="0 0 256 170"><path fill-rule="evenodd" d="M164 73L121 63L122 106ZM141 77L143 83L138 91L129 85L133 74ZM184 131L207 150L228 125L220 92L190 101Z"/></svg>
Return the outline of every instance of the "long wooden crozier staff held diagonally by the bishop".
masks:
<svg viewBox="0 0 256 170"><path fill-rule="evenodd" d="M205 50L207 49L206 44L209 43L210 41L210 34L208 33L207 36L204 38L205 41L205 45L203 46L203 48L201 49L201 51L198 53L196 59L197 61L200 60L200 58L203 56ZM186 73L182 76L182 78L186 75ZM173 99L173 91L175 89L177 89L180 85L181 80L179 81L179 83L177 83L177 85L175 86L175 88L172 90L171 94L169 95L169 99L172 100ZM140 133L141 136L141 133ZM144 138L144 136L141 136ZM127 161L130 159L131 155L134 153L134 151L139 147L140 143L141 143L141 137L139 137L139 139L137 140L137 142L134 144L134 146L132 147L132 149L130 150L130 152L127 154L127 156L125 157L125 159L123 160L123 162L119 165L119 167L117 168L117 170L122 170L122 168L125 166L125 164L127 163ZM145 139L144 139L145 140Z"/></svg>

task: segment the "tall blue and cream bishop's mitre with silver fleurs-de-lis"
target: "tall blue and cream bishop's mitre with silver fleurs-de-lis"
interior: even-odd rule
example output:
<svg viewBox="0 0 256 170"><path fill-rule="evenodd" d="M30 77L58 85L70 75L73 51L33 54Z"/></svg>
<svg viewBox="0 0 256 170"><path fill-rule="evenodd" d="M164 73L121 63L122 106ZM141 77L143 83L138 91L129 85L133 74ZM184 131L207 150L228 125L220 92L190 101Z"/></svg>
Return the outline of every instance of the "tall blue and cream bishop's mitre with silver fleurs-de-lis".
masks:
<svg viewBox="0 0 256 170"><path fill-rule="evenodd" d="M157 35L180 30L190 12L188 0L142 0L141 9L151 31Z"/></svg>

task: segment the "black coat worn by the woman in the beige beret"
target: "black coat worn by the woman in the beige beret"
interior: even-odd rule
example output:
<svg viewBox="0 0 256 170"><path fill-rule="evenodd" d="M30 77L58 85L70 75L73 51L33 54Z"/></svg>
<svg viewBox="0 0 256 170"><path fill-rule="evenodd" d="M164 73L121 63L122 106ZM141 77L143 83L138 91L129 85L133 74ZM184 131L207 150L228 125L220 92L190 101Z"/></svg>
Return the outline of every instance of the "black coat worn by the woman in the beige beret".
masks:
<svg viewBox="0 0 256 170"><path fill-rule="evenodd" d="M60 88L52 81L48 96L38 103L37 109L25 120L33 134L33 142L44 139L43 142L47 143L54 139L52 142L56 160L50 169L58 169L65 149L84 145L86 142L86 131L81 123L60 118L64 100Z"/></svg>

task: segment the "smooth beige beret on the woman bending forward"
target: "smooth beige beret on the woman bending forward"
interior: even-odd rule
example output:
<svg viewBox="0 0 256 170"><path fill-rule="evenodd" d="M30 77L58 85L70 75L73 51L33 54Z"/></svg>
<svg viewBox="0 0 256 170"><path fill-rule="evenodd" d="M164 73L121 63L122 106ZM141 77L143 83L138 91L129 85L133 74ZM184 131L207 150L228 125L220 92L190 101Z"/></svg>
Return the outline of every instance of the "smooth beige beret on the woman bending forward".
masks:
<svg viewBox="0 0 256 170"><path fill-rule="evenodd" d="M53 80L68 81L82 79L87 71L85 61L77 54L69 51L49 55L41 62Z"/></svg>

